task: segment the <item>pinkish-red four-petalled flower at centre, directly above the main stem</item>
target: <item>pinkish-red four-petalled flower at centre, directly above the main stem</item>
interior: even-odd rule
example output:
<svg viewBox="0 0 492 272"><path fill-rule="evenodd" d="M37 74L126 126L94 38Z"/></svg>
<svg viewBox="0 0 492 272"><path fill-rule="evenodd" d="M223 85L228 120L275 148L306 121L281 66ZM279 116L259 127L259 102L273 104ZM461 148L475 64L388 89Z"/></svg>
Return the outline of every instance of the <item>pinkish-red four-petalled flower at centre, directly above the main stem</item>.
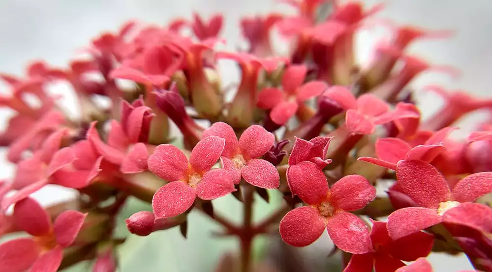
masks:
<svg viewBox="0 0 492 272"><path fill-rule="evenodd" d="M278 187L280 177L277 168L266 160L258 159L272 148L275 141L272 133L259 125L252 125L246 128L238 141L230 125L216 122L204 131L203 136L218 136L225 140L220 162L235 184L239 184L242 177L257 187Z"/></svg>

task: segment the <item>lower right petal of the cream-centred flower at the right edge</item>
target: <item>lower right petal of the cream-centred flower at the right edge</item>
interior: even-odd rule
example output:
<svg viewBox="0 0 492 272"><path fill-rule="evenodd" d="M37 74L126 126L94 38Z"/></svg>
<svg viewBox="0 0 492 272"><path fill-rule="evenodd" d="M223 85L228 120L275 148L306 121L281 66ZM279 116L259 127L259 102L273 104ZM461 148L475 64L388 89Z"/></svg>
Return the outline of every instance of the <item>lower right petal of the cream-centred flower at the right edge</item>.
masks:
<svg viewBox="0 0 492 272"><path fill-rule="evenodd" d="M480 203L462 203L444 212L442 220L446 223L468 226L486 233L492 233L492 209Z"/></svg>

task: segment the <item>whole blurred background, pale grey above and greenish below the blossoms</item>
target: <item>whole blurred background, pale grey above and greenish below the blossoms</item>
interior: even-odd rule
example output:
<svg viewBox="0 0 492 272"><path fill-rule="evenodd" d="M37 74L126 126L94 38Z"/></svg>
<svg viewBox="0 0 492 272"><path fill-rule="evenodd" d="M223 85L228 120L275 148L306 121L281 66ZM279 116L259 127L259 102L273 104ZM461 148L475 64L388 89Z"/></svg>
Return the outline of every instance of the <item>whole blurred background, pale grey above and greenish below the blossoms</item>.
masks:
<svg viewBox="0 0 492 272"><path fill-rule="evenodd" d="M342 1L343 2L343 1ZM380 1L366 0L367 6ZM431 93L419 91L427 84L439 84L449 89L462 89L477 96L492 96L492 3L489 0L387 0L386 8L377 16L390 18L399 24L412 24L428 29L455 30L450 39L422 40L414 43L409 53L418 55L435 64L448 64L461 70L461 77L449 78L434 73L424 73L411 84L417 90L417 100L424 118L436 109L441 101ZM222 37L227 39L227 49L234 50L241 44L239 19L245 15L266 14L270 11L293 12L285 5L273 0L0 0L0 71L23 74L25 65L34 59L46 60L54 66L66 66L68 60L77 56L91 38L103 30L117 30L128 19L145 23L165 24L175 17L191 18L193 11L208 18L215 12L223 13L225 25ZM357 45L360 63L367 63L374 43L387 32L378 28L361 30ZM280 51L282 46L278 46ZM220 70L224 85L237 82L239 73L221 63ZM231 66L233 67L233 66ZM1 91L8 91L0 88ZM64 94L63 103L67 108L75 107L70 93L63 86L55 92ZM436 98L436 99L434 99ZM0 112L0 126L11 113ZM476 113L462 122L462 130L472 127L469 120L477 118ZM1 151L4 157L5 151ZM13 166L2 159L0 178L13 174ZM44 204L61 201L73 196L72 192L52 187L35 194ZM273 204L256 201L256 219L268 214L280 203L279 196L273 195ZM214 201L216 210L239 220L240 205L233 197ZM141 203L127 207L125 214L150 209ZM219 257L226 251L236 249L236 241L211 237L217 229L212 222L198 213L192 213L189 220L188 239L179 230L171 229L149 237L130 237L121 248L121 271L146 272L194 272L213 271ZM122 232L124 232L124 228ZM271 240L269 240L271 241ZM255 244L257 257L270 262L276 258L298 256L283 243L258 241ZM328 237L301 250L296 262L304 263L308 271L324 264L331 244ZM276 250L273 250L276 249ZM275 254L271 254L275 252ZM460 271L471 269L463 256L449 257L433 254L430 257L435 271ZM311 270L309 270L311 268ZM78 271L89 271L88 264L78 266ZM291 271L298 271L294 267ZM318 271L318 270L316 270ZM328 269L323 271L329 271Z"/></svg>

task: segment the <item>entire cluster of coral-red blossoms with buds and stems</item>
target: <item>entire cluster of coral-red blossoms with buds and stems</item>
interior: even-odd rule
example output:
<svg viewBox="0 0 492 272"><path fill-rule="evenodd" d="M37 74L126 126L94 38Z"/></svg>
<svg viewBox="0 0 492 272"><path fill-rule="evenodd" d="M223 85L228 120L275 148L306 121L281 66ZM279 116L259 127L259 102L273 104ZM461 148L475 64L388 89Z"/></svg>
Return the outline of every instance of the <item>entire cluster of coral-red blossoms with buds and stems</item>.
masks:
<svg viewBox="0 0 492 272"><path fill-rule="evenodd" d="M222 14L193 13L101 33L85 50L91 57L66 68L33 61L25 78L1 73L10 91L0 106L14 115L0 144L16 170L0 181L0 272L55 272L88 259L94 272L115 272L118 224L138 236L179 227L186 237L191 211L219 223L217 237L239 239L241 263L228 272L252 272L252 242L272 229L296 247L326 229L344 252L344 272L431 272L432 251L463 252L476 271L492 272L492 118L467 138L451 135L468 113L492 112L492 98L427 86L445 105L423 119L408 86L426 71L455 74L405 52L449 32L374 18L382 5L284 2L295 15L241 19L247 48L239 52L215 49L227 42ZM357 63L357 31L378 22L392 34ZM285 56L271 40L277 30L290 46ZM232 99L220 59L241 72ZM77 116L50 94L57 81L75 92ZM376 195L382 180L391 185ZM31 194L49 184L79 197L42 207ZM269 202L271 190L284 203L256 222L255 194ZM229 195L243 204L242 224L214 208ZM119 222L130 198L152 211ZM15 233L29 237L8 237Z"/></svg>

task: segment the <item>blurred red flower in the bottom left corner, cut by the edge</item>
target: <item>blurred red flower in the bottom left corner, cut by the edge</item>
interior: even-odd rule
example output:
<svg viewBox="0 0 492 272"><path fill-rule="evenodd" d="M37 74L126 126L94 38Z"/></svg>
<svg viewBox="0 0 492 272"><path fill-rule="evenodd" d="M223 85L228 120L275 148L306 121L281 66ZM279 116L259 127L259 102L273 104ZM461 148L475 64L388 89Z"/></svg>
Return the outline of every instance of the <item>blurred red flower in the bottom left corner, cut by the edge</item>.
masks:
<svg viewBox="0 0 492 272"><path fill-rule="evenodd" d="M32 238L17 238L0 245L0 271L56 272L63 249L77 237L87 214L62 212L52 223L49 214L31 198L16 203L14 220Z"/></svg>

